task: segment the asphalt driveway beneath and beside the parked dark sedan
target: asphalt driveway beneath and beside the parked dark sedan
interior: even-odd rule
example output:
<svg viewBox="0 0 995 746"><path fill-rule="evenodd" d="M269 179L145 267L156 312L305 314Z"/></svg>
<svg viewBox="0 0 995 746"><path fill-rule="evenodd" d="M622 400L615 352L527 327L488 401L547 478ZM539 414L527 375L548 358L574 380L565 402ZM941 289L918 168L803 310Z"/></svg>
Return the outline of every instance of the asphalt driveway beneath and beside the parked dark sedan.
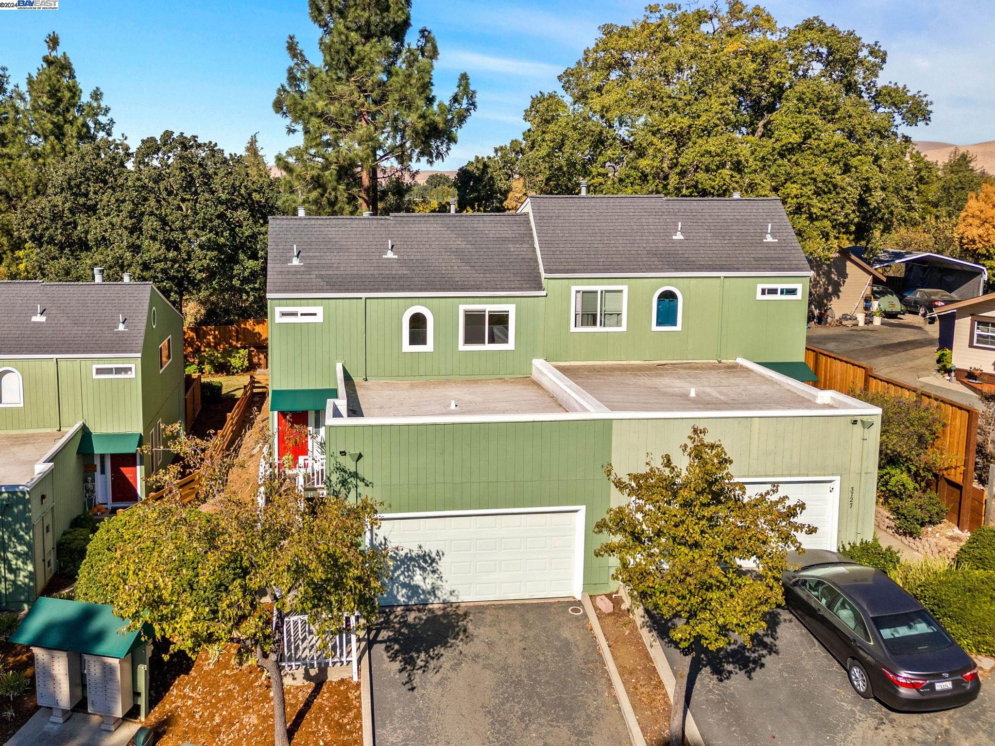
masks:
<svg viewBox="0 0 995 746"><path fill-rule="evenodd" d="M671 667L681 653L655 621ZM909 746L992 743L995 676L953 710L904 713L862 699L836 658L786 609L768 618L768 634L751 649L711 653L692 673L691 712L707 746Z"/></svg>

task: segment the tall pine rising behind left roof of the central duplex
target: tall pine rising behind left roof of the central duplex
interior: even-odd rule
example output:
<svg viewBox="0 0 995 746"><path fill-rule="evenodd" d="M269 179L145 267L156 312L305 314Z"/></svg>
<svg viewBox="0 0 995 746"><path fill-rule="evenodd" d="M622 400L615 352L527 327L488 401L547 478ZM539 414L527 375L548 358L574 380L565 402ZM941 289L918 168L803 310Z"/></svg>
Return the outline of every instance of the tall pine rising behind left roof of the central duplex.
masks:
<svg viewBox="0 0 995 746"><path fill-rule="evenodd" d="M308 0L320 30L319 64L291 36L287 83L274 110L302 144L277 156L286 173L281 207L315 214L378 211L379 169L410 169L444 158L477 107L460 75L448 101L437 100L432 74L439 49L423 28L414 44L410 0Z"/></svg>

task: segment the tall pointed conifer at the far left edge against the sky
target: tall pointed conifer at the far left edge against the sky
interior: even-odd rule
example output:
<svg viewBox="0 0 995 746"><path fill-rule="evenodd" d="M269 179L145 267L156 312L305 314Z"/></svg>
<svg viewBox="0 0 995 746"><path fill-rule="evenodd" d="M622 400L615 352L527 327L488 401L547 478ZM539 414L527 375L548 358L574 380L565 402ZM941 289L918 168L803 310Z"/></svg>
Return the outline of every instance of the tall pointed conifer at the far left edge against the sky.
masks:
<svg viewBox="0 0 995 746"><path fill-rule="evenodd" d="M0 278L23 274L15 212L44 191L50 167L113 128L100 89L83 97L69 55L59 54L59 36L49 34L45 44L42 65L23 89L11 88L0 68Z"/></svg>

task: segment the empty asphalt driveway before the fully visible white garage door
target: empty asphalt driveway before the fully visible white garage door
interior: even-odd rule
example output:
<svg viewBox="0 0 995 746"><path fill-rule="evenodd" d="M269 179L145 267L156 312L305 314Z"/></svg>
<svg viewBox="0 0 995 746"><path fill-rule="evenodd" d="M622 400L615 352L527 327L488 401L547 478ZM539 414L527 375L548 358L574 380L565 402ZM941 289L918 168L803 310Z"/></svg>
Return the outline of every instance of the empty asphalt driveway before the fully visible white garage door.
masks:
<svg viewBox="0 0 995 746"><path fill-rule="evenodd" d="M388 610L370 640L377 746L628 744L576 601Z"/></svg>

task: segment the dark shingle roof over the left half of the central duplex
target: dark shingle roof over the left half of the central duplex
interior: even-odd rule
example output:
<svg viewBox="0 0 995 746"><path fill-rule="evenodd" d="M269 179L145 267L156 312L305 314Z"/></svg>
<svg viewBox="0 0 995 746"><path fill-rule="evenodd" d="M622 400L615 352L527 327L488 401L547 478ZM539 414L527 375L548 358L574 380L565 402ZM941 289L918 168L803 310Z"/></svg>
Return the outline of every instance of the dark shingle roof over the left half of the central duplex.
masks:
<svg viewBox="0 0 995 746"><path fill-rule="evenodd" d="M269 294L542 289L528 216L504 213L274 217L268 269Z"/></svg>

